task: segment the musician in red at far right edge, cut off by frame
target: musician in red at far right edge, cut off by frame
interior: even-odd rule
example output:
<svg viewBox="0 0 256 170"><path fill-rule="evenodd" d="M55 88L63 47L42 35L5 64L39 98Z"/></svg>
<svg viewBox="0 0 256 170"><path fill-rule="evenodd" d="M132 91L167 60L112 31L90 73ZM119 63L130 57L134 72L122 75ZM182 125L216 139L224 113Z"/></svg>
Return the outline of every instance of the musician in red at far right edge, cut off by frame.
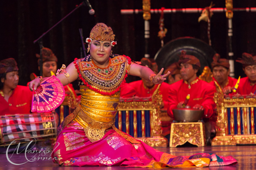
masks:
<svg viewBox="0 0 256 170"><path fill-rule="evenodd" d="M238 58L238 63L242 63L246 77L240 79L240 83L236 92L241 95L255 94L256 92L256 56L248 53L242 54L242 59ZM223 92L228 94L232 92L233 86L227 86Z"/></svg>

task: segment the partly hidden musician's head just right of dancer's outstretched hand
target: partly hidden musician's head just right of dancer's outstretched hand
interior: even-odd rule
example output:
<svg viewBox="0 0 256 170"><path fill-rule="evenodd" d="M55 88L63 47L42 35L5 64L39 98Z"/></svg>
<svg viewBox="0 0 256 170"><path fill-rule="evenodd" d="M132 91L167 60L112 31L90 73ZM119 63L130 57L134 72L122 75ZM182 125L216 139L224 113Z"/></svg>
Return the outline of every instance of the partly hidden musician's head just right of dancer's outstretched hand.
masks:
<svg viewBox="0 0 256 170"><path fill-rule="evenodd" d="M168 71L170 71L169 76L166 78L166 82L168 84L173 84L182 79L182 77L180 75L180 66L178 63L172 63L170 66L168 66L164 70L164 74L167 74Z"/></svg>

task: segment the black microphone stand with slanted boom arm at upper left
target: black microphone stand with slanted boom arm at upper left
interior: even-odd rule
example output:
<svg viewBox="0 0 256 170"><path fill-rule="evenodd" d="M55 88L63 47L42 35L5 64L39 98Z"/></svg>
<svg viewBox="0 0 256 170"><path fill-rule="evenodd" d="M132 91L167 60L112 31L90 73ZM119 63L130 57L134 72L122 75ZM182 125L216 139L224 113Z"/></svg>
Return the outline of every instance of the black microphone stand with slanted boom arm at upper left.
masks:
<svg viewBox="0 0 256 170"><path fill-rule="evenodd" d="M40 76L43 75L43 62L42 62L42 48L43 48L43 42L42 42L42 37L44 37L44 35L46 35L50 30L52 30L54 27L56 27L56 25L58 25L59 23L61 23L65 18L67 18L70 14L72 14L75 10L77 10L78 8L80 8L82 5L85 5L84 2L82 2L81 4L79 4L78 6L76 6L76 8L74 10L72 10L70 13L68 13L68 15L64 16L64 18L62 18L60 21L58 21L55 25L53 25L50 29L48 29L48 31L46 31L45 33L43 33L38 39L36 39L35 41L33 41L33 43L36 43L38 41L39 43L39 47L40 47L40 60L39 60L39 64L40 64ZM84 48L84 44L83 44L83 48Z"/></svg>

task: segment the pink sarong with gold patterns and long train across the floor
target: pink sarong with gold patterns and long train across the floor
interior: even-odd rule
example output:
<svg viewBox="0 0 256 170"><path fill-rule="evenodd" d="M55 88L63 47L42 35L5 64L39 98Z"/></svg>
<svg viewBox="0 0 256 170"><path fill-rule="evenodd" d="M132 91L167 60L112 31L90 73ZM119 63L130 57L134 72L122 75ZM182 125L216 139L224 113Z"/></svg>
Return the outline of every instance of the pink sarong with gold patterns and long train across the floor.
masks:
<svg viewBox="0 0 256 170"><path fill-rule="evenodd" d="M184 168L237 164L232 156L208 153L174 156L143 142L132 144L112 129L102 139L92 143L76 121L71 121L58 135L52 158L54 163L62 166Z"/></svg>

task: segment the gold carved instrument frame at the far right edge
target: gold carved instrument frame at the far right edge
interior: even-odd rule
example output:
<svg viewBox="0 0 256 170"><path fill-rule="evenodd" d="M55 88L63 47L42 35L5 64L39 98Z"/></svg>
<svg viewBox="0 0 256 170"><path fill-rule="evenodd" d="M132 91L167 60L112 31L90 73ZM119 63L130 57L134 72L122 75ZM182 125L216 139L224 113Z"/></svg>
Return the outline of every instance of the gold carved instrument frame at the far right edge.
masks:
<svg viewBox="0 0 256 170"><path fill-rule="evenodd" d="M253 110L256 106L256 99L254 98L243 98L243 99L224 99L223 92L215 82L216 85L216 92L214 94L214 102L216 103L216 111L217 111L217 131L216 137L212 140L212 146L220 146L220 145L237 145L237 144L256 144L256 135L251 133L251 135L241 135L241 129L239 128L240 122L240 114L237 116L237 123L238 123L238 135L234 135L234 131L232 131L232 126L234 126L234 108L237 108L237 112L240 113L240 109L247 114L251 114L251 121L253 124L254 115L247 111L248 107L251 107ZM242 107L242 108L240 108ZM228 117L227 111L230 108L230 125L231 125L231 135L228 135ZM252 111L251 111L252 112ZM244 125L248 125L247 118L248 116L245 114L244 118ZM232 125L233 124L233 125ZM244 133L247 134L247 128L244 129ZM254 132L254 129L252 129Z"/></svg>

